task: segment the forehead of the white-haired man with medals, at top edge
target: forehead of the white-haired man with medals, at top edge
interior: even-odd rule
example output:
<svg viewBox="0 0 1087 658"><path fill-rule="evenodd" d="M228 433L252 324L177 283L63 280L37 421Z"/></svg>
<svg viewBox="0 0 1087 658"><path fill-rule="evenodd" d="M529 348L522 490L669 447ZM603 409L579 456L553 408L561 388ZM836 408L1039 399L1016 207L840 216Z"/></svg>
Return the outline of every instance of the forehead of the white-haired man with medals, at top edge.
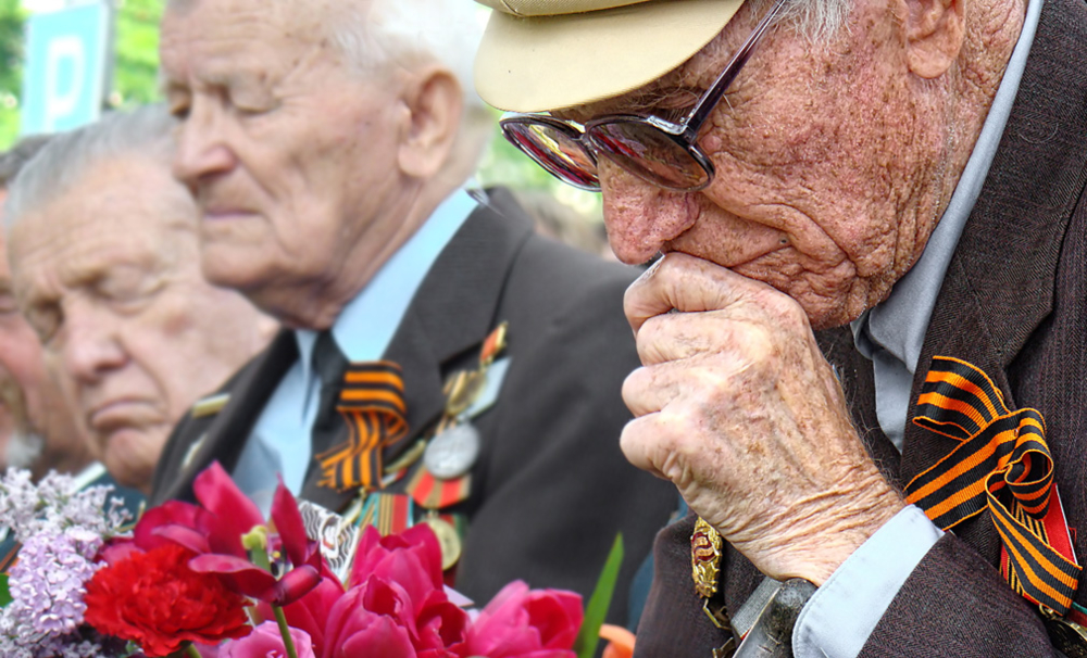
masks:
<svg viewBox="0 0 1087 658"><path fill-rule="evenodd" d="M234 71L288 68L297 53L322 38L316 18L328 2L197 0L171 5L162 22L167 79L224 81Z"/></svg>

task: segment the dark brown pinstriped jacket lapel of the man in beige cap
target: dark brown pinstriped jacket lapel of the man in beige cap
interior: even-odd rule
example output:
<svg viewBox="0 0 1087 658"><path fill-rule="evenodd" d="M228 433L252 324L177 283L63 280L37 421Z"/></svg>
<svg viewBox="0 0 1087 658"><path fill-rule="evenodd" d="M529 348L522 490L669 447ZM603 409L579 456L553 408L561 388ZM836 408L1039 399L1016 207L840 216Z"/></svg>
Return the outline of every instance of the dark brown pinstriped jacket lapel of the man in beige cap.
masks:
<svg viewBox="0 0 1087 658"><path fill-rule="evenodd" d="M1065 0L1070 1L1070 0ZM1047 2L1020 91L989 175L959 240L928 326L911 400L921 394L934 356L953 356L984 370L1016 408L1008 369L1030 334L1052 311L1061 242L1084 188L1087 151L1082 115L1083 79L1059 42L1063 1ZM1066 52L1066 51L1064 51ZM1039 176L1039 172L1047 175ZM1042 414L1046 409L1039 409ZM955 446L912 422L911 405L902 456L903 482L929 468ZM955 534L990 561L999 555L985 515Z"/></svg>

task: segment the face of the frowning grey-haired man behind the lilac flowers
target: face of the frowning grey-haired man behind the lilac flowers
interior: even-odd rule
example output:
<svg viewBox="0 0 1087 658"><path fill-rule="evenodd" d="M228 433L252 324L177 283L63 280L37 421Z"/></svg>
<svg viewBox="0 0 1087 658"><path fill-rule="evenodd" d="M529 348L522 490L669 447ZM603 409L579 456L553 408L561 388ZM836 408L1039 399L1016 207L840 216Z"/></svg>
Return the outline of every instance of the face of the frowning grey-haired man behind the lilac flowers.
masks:
<svg viewBox="0 0 1087 658"><path fill-rule="evenodd" d="M174 423L260 346L258 314L200 275L196 211L165 168L93 167L11 233L20 307L110 472L148 488Z"/></svg>

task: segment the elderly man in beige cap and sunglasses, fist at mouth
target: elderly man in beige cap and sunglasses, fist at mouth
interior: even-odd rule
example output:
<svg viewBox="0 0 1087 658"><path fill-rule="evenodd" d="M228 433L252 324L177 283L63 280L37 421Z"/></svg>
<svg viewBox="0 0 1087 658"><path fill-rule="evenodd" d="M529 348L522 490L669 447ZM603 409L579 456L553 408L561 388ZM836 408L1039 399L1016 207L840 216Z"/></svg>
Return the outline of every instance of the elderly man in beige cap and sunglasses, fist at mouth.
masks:
<svg viewBox="0 0 1087 658"><path fill-rule="evenodd" d="M622 445L695 514L638 654L800 578L737 655L1087 655L1087 5L487 3L507 137L664 253Z"/></svg>

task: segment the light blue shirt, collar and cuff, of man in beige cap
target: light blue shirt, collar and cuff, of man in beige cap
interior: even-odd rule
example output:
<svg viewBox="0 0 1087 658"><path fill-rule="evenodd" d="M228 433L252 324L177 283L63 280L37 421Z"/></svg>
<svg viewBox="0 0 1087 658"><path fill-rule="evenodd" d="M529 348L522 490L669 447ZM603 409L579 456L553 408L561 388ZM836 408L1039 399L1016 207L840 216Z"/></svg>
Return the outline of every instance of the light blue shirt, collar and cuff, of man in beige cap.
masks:
<svg viewBox="0 0 1087 658"><path fill-rule="evenodd" d="M885 302L858 318L858 350L872 359L879 427L902 450L913 374L959 237L966 225L1008 125L1041 15L1028 0L1026 20L977 143L917 264ZM797 658L855 658L910 573L942 536L909 506L880 528L816 591L797 620Z"/></svg>

